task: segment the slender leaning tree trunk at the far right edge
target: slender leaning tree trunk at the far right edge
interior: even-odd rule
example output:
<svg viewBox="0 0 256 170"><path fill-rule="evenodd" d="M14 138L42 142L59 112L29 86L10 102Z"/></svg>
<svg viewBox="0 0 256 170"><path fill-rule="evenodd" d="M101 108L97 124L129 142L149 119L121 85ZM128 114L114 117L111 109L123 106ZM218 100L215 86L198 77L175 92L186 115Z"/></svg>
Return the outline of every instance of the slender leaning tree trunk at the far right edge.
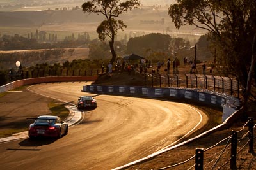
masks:
<svg viewBox="0 0 256 170"><path fill-rule="evenodd" d="M250 92L251 92L252 76L253 76L252 74L253 74L253 69L255 67L255 62L256 62L255 41L256 41L256 34L254 34L254 36L253 36L251 66L250 66L250 70L248 73L248 78L247 78L247 83L246 83L246 91L244 94L244 113L247 113L247 111L248 111L248 99L249 99Z"/></svg>

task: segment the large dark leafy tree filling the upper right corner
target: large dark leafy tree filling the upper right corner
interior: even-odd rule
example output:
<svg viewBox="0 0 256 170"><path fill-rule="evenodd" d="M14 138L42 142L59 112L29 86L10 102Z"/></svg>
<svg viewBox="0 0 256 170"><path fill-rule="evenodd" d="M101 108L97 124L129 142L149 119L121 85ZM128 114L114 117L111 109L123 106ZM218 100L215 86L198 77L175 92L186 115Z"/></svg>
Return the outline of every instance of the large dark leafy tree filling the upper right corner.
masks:
<svg viewBox="0 0 256 170"><path fill-rule="evenodd" d="M177 0L168 10L178 29L189 24L209 31L222 71L241 82L245 111L256 62L255 9L255 0Z"/></svg>

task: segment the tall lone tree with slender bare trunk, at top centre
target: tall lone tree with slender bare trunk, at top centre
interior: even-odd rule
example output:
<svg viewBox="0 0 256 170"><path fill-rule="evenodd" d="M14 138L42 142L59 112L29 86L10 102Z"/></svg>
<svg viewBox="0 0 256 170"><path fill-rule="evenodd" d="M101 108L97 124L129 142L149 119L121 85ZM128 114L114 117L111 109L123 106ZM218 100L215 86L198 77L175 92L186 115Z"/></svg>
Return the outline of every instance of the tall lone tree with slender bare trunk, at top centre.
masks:
<svg viewBox="0 0 256 170"><path fill-rule="evenodd" d="M82 5L84 13L97 13L104 15L106 20L103 20L101 24L97 27L97 33L99 34L99 39L104 41L109 38L109 47L112 54L111 63L116 59L115 52L115 36L118 30L124 31L127 25L124 24L122 20L116 20L122 13L128 10L132 10L140 5L138 0L129 0L119 2L118 0L91 0Z"/></svg>

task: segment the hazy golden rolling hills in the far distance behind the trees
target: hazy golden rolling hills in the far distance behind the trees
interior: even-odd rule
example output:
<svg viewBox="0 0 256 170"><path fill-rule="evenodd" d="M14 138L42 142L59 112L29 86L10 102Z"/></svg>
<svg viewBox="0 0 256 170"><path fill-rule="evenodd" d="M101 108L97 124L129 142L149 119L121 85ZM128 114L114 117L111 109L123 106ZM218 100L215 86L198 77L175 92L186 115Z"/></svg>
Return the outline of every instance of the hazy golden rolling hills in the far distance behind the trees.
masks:
<svg viewBox="0 0 256 170"><path fill-rule="evenodd" d="M0 34L27 36L31 30L35 32L38 29L46 32L88 32L91 38L97 38L97 26L104 17L83 13L83 3L84 0L50 0L47 3L38 0L0 0ZM205 33L193 26L177 30L168 15L171 3L175 1L142 0L138 9L123 13L118 18L127 25L124 32L118 32L119 38L124 34L141 36L156 32L197 37Z"/></svg>

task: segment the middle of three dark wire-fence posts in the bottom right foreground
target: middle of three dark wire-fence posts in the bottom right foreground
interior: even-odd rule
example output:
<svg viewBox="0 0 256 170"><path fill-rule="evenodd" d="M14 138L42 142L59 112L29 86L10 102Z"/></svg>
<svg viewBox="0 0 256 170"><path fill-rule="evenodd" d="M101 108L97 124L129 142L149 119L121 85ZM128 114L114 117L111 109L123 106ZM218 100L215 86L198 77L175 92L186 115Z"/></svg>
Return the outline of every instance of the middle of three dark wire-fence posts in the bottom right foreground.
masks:
<svg viewBox="0 0 256 170"><path fill-rule="evenodd" d="M237 131L232 131L230 169L237 169L237 167L236 167L236 151L237 151Z"/></svg>

